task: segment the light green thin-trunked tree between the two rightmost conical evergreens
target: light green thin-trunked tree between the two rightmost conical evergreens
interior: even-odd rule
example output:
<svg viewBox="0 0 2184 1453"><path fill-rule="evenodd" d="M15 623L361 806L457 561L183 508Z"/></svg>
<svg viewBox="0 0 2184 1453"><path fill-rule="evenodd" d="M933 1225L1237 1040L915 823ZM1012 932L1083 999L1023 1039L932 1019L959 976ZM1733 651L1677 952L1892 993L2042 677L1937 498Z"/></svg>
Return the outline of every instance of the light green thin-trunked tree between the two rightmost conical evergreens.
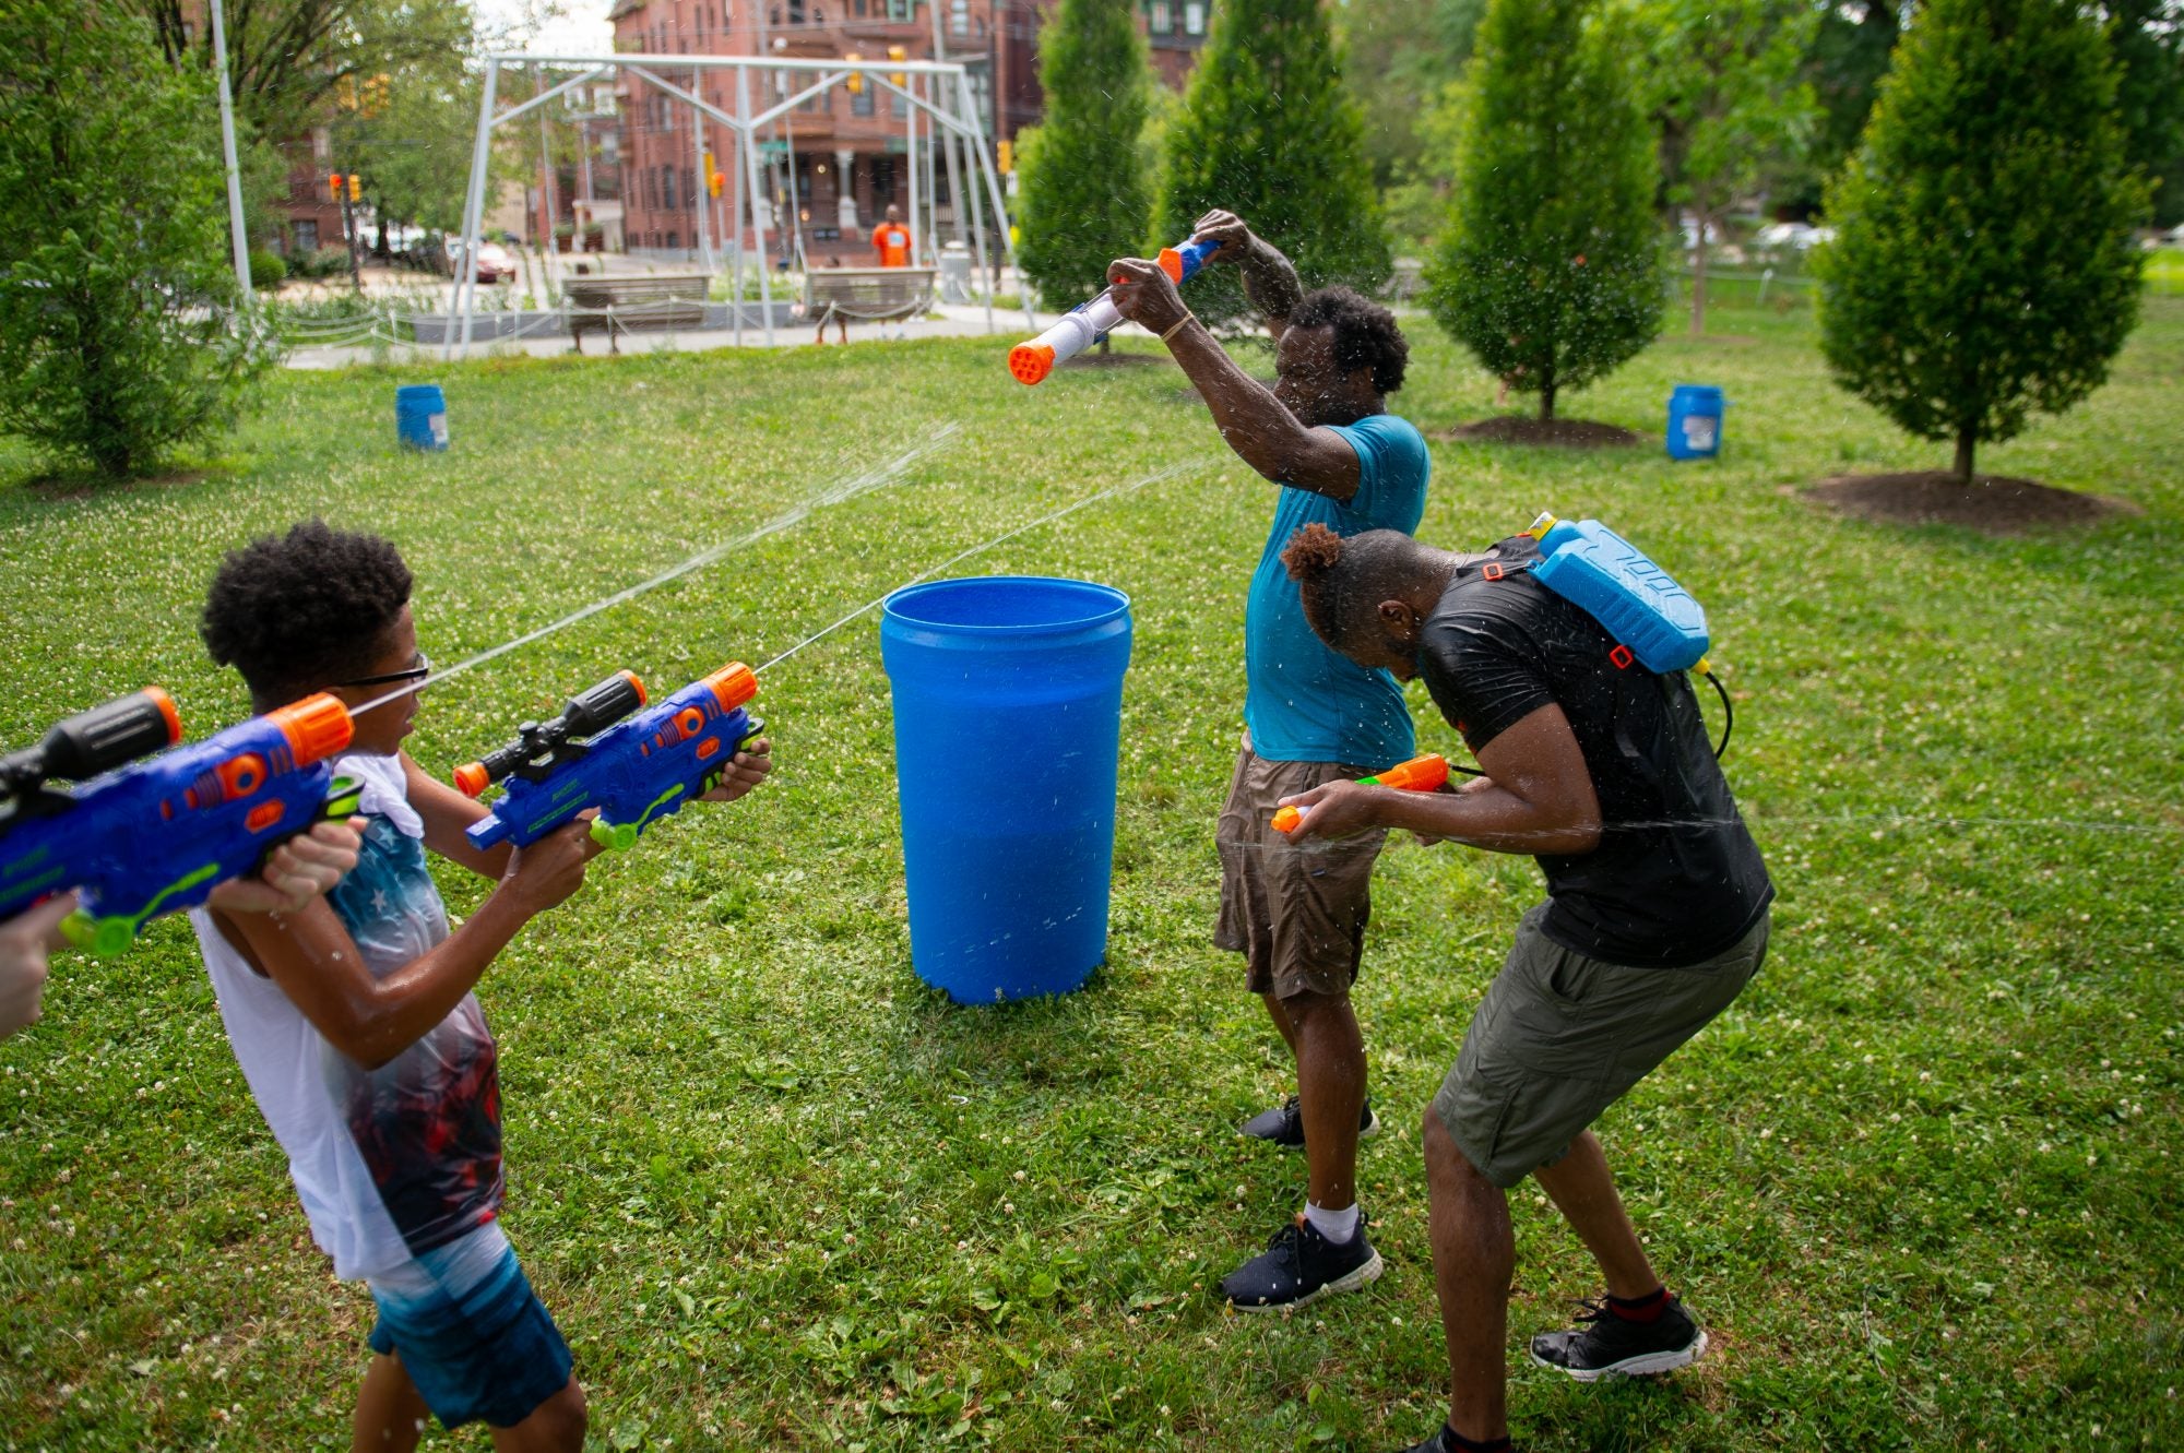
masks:
<svg viewBox="0 0 2184 1453"><path fill-rule="evenodd" d="M1645 96L1660 127L1669 203L1690 214L1690 332L1706 332L1706 240L1769 168L1804 148L1813 87L1797 72L1813 0L1636 0Z"/></svg>

